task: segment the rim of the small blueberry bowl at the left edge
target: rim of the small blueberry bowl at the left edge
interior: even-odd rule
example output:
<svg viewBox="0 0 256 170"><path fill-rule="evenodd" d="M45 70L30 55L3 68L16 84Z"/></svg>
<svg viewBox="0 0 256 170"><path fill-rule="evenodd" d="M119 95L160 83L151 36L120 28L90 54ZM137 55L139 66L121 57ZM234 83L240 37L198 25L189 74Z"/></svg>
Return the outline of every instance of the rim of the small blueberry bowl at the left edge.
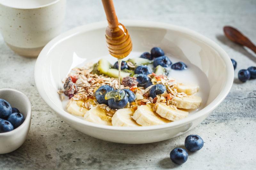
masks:
<svg viewBox="0 0 256 170"><path fill-rule="evenodd" d="M0 133L0 137L14 135L16 132L20 131L22 128L25 128L24 126L26 126L26 124L29 124L31 121L31 103L30 103L28 96L26 96L24 93L22 93L18 90L15 90L15 89L0 89L0 93L2 91L12 91L12 92L17 93L18 95L22 96L25 100L25 103L27 104L28 110L27 110L27 116L26 116L24 122L19 127L13 129L12 131Z"/></svg>

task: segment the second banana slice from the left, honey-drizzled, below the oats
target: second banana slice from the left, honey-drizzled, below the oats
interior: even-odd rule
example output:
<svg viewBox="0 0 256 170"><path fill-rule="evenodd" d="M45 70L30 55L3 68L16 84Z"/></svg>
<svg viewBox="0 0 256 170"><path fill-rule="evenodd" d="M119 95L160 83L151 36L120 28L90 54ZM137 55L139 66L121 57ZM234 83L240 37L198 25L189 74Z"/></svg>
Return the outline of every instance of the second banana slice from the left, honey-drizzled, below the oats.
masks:
<svg viewBox="0 0 256 170"><path fill-rule="evenodd" d="M111 124L111 117L108 116L103 109L99 106L95 106L88 110L84 114L84 119L96 123L96 124L104 124L104 125L112 125Z"/></svg>

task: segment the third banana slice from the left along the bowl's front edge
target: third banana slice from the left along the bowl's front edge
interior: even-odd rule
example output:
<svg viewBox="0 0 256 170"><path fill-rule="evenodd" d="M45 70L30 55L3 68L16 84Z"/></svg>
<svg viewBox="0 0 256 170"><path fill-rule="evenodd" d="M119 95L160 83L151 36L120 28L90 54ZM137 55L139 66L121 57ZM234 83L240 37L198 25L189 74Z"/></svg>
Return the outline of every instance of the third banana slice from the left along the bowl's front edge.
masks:
<svg viewBox="0 0 256 170"><path fill-rule="evenodd" d="M117 110L112 117L112 125L128 126L128 127L140 126L132 119L133 113L134 113L134 110L130 108Z"/></svg>

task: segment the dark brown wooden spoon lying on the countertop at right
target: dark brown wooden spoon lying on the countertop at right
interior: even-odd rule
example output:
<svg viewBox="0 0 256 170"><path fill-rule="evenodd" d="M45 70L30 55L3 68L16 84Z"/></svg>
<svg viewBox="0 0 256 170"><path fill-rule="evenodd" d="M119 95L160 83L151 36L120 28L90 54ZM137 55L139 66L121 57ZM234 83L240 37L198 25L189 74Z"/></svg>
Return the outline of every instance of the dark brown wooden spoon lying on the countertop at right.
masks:
<svg viewBox="0 0 256 170"><path fill-rule="evenodd" d="M228 39L242 46L246 46L256 53L256 46L236 28L225 26L223 31Z"/></svg>

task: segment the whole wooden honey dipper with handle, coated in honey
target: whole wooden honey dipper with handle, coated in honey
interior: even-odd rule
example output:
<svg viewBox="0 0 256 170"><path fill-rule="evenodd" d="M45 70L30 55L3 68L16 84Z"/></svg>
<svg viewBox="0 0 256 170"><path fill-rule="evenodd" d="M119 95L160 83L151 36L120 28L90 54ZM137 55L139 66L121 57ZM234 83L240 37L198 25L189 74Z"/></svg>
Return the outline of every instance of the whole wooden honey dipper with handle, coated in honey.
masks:
<svg viewBox="0 0 256 170"><path fill-rule="evenodd" d="M117 59L123 59L132 51L132 40L128 30L118 22L112 0L102 0L108 20L106 40L109 53Z"/></svg>

